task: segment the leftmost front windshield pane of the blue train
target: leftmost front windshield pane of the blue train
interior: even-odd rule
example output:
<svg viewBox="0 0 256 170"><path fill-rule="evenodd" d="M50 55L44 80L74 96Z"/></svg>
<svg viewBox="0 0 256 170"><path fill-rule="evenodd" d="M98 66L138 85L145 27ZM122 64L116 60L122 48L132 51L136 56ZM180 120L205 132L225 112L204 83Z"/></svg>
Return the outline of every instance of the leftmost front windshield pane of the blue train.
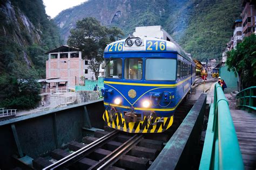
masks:
<svg viewBox="0 0 256 170"><path fill-rule="evenodd" d="M113 79L122 78L122 59L106 59L105 77Z"/></svg>

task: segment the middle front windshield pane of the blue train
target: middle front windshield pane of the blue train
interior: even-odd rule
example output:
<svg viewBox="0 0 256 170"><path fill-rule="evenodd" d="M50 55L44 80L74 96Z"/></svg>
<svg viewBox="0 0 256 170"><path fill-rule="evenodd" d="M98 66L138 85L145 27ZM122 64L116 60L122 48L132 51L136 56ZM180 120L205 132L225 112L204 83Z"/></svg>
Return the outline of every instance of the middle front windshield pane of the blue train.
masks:
<svg viewBox="0 0 256 170"><path fill-rule="evenodd" d="M142 59L132 58L124 60L124 78L142 80Z"/></svg>

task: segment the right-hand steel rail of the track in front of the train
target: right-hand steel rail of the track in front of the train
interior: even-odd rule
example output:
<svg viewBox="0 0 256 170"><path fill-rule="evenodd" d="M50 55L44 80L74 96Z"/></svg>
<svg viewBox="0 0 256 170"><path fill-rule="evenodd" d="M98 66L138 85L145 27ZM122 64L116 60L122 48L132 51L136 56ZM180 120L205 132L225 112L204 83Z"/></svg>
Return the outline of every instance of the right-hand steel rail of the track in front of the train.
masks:
<svg viewBox="0 0 256 170"><path fill-rule="evenodd" d="M124 144L116 148L112 153L107 155L104 159L100 160L96 165L89 169L106 169L115 164L122 155L126 154L131 148L139 143L143 139L143 134L135 134L132 138L127 140Z"/></svg>

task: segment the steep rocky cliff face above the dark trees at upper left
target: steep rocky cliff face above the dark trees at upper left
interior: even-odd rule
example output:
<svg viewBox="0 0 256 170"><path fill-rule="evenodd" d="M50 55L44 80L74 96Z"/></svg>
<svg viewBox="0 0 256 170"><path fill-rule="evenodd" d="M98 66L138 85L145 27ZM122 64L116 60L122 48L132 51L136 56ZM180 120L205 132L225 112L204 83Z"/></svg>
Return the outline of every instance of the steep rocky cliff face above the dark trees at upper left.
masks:
<svg viewBox="0 0 256 170"><path fill-rule="evenodd" d="M41 8L44 9L41 0L32 1L31 3L33 2L36 2L37 5L41 4ZM1 1L0 4L1 73L9 74L18 65L26 65L27 68L43 68L44 66L37 65L38 56L42 56L44 51L60 44L58 29L48 19L45 11L41 13L42 17L45 18L44 22L32 23L31 18L26 15L25 9L19 8L19 4L30 6L28 0ZM48 25L45 23L48 23ZM47 26L52 27L47 28ZM47 30L48 33L55 35L55 37L45 36L44 33ZM35 50L38 52L32 53Z"/></svg>

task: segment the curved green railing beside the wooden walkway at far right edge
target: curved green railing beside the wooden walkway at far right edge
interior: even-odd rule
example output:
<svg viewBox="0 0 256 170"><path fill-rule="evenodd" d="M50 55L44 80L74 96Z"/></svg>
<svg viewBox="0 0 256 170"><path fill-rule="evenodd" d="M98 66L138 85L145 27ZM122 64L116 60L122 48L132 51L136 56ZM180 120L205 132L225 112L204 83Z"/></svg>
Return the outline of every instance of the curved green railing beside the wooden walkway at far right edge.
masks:
<svg viewBox="0 0 256 170"><path fill-rule="evenodd" d="M237 106L249 112L256 110L256 86L249 87L237 94Z"/></svg>

